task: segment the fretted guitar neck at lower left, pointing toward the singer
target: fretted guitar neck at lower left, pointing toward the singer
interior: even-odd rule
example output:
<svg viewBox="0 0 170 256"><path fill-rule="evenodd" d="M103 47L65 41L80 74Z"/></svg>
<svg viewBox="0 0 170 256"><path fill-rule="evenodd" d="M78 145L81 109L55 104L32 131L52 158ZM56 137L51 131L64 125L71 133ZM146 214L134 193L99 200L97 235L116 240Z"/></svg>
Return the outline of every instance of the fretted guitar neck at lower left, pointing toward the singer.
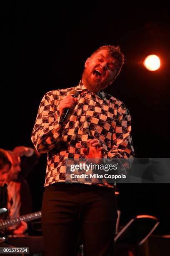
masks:
<svg viewBox="0 0 170 256"><path fill-rule="evenodd" d="M0 229L8 228L13 225L18 225L18 224L20 224L21 220L28 222L30 220L36 220L39 218L41 218L41 211L22 215L18 218L14 218L14 219L2 220L2 221L0 221Z"/></svg>

